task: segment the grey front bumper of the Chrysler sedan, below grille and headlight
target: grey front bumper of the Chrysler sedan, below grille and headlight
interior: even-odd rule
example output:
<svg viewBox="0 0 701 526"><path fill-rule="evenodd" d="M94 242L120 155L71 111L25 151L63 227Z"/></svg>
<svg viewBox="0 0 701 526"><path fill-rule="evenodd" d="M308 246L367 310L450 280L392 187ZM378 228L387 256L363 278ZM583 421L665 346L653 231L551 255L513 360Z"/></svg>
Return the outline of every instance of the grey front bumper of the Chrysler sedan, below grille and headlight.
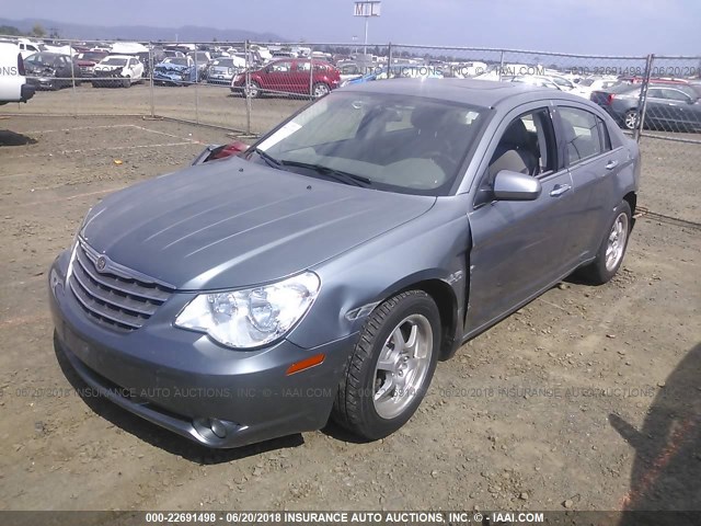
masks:
<svg viewBox="0 0 701 526"><path fill-rule="evenodd" d="M116 404L215 448L325 425L357 335L310 350L287 340L256 351L229 350L165 320L180 309L183 298L174 298L180 294L140 329L116 332L82 310L65 283L67 266L64 252L49 272L58 351L90 387ZM325 355L322 364L286 374L292 363L318 354Z"/></svg>

